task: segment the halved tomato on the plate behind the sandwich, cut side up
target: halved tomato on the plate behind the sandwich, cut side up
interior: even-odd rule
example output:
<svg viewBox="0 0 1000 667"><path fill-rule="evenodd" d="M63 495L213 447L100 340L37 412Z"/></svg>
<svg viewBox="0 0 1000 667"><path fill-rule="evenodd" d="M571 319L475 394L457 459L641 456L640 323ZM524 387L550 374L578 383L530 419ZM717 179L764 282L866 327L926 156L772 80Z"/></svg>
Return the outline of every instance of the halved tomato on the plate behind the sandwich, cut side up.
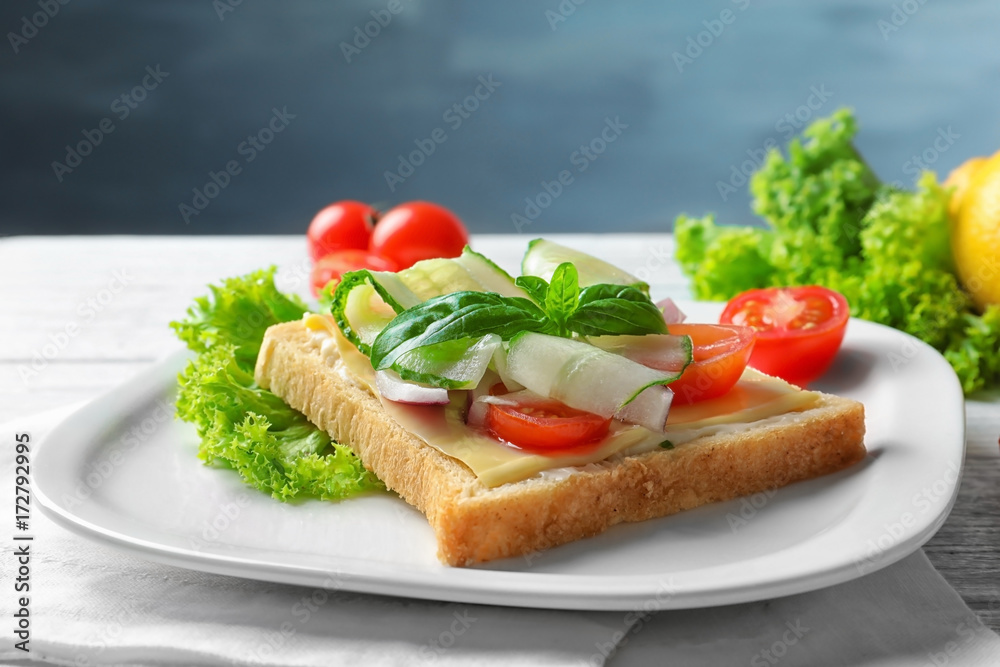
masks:
<svg viewBox="0 0 1000 667"><path fill-rule="evenodd" d="M720 321L753 327L750 365L801 387L830 367L850 318L847 299L825 287L770 287L738 294Z"/></svg>

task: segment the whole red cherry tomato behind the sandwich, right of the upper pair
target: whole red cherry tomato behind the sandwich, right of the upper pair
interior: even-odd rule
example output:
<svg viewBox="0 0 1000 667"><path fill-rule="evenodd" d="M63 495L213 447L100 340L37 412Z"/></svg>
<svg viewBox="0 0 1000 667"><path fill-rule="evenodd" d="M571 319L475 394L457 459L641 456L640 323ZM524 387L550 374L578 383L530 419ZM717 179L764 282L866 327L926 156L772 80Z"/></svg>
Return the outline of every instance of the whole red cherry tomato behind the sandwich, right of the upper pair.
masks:
<svg viewBox="0 0 1000 667"><path fill-rule="evenodd" d="M458 257L469 233L454 213L428 202L408 202L390 209L375 225L368 247L400 269L432 257Z"/></svg>

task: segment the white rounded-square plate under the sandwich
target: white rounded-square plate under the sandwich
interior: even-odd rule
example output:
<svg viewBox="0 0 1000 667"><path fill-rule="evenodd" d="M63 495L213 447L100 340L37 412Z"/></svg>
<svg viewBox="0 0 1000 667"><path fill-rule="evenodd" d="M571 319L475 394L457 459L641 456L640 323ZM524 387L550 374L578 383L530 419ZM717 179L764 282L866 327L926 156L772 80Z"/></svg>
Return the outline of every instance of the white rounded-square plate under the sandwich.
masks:
<svg viewBox="0 0 1000 667"><path fill-rule="evenodd" d="M692 320L719 306L684 304ZM954 502L964 402L947 362L910 336L852 320L817 388L865 404L869 456L771 494L618 526L474 568L435 558L423 515L383 494L283 504L203 466L168 413L178 353L56 428L35 458L50 516L140 556L227 575L525 607L691 608L854 579L926 542ZM165 407L166 406L166 407Z"/></svg>

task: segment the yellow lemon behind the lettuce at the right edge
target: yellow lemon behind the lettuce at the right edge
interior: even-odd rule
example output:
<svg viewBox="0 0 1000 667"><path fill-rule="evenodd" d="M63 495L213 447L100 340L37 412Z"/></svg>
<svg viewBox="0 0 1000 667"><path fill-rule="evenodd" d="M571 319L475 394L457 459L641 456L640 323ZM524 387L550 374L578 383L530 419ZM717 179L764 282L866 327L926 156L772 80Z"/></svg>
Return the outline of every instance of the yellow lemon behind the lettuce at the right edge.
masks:
<svg viewBox="0 0 1000 667"><path fill-rule="evenodd" d="M1000 304L1000 152L969 160L945 184L957 187L950 204L958 277L980 309Z"/></svg>

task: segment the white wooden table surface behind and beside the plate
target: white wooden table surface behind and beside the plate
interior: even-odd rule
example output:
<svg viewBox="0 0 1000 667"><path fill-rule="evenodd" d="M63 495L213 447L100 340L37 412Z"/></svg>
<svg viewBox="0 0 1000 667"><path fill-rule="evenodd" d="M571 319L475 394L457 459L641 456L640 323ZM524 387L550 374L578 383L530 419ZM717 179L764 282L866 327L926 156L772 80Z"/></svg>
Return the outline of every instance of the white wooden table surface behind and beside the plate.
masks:
<svg viewBox="0 0 1000 667"><path fill-rule="evenodd" d="M493 259L516 271L529 238L480 236L473 245L488 245ZM670 235L607 236L601 243L608 257L650 283L654 297L688 297L670 259ZM282 267L280 287L308 297L310 265L300 236L0 240L0 423L123 382L179 346L167 324L208 283L269 264ZM966 418L960 495L924 550L983 623L1000 630L1000 391L968 400Z"/></svg>

